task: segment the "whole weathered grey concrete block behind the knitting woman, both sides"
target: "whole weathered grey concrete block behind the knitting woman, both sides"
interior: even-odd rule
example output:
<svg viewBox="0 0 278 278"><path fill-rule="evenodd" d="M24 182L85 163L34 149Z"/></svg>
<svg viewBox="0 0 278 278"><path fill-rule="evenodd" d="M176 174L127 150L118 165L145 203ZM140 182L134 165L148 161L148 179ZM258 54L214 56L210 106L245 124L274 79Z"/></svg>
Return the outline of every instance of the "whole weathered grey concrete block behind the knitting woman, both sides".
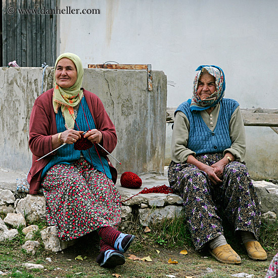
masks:
<svg viewBox="0 0 278 278"><path fill-rule="evenodd" d="M153 90L148 90L147 71L84 69L83 86L104 103L115 124L118 145L111 161L119 173L163 172L167 78L153 71ZM41 91L42 68L0 68L0 167L27 172L29 117ZM53 68L44 76L44 91L53 86ZM11 100L11 101L9 101ZM16 142L16 144L15 144Z"/></svg>

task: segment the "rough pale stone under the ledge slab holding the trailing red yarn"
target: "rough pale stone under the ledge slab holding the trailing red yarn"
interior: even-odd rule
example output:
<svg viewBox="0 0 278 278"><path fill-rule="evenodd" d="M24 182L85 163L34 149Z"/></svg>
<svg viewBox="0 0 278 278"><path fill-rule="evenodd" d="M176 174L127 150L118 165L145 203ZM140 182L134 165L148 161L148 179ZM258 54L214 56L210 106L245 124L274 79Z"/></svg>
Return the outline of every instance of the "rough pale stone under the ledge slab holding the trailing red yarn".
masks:
<svg viewBox="0 0 278 278"><path fill-rule="evenodd" d="M145 208L139 209L139 220L143 226L148 226L165 219L173 219L178 217L182 212L182 207L166 206L163 208Z"/></svg>

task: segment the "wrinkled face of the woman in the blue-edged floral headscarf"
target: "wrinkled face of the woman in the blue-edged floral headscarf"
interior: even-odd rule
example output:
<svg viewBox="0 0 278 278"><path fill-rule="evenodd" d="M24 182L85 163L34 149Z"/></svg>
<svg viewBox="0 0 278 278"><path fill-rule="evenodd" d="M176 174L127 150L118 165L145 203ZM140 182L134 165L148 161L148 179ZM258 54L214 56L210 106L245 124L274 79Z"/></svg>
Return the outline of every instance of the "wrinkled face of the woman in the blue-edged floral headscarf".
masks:
<svg viewBox="0 0 278 278"><path fill-rule="evenodd" d="M198 80L197 94L203 101L215 92L215 77L204 71Z"/></svg>

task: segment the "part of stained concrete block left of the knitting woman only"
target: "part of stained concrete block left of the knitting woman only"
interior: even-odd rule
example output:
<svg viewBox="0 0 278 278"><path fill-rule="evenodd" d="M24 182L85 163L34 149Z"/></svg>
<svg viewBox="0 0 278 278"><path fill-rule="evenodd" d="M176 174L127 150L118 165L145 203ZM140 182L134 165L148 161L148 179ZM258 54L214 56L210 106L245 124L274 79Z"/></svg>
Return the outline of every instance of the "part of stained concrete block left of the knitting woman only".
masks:
<svg viewBox="0 0 278 278"><path fill-rule="evenodd" d="M0 167L27 172L31 166L28 148L29 118L41 93L42 68L0 68ZM45 70L44 88L53 86L52 68Z"/></svg>

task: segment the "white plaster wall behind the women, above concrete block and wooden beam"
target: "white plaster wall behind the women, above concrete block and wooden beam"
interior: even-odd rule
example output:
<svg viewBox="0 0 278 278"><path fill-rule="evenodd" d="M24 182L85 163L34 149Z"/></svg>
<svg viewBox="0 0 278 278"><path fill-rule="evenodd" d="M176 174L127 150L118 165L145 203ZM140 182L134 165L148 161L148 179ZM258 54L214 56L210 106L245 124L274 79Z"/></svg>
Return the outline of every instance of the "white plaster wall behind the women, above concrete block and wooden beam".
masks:
<svg viewBox="0 0 278 278"><path fill-rule="evenodd" d="M100 14L61 15L58 53L78 54L84 67L152 64L176 83L168 85L168 107L191 97L201 64L224 70L226 97L241 107L278 107L276 0L61 0L60 6Z"/></svg>

